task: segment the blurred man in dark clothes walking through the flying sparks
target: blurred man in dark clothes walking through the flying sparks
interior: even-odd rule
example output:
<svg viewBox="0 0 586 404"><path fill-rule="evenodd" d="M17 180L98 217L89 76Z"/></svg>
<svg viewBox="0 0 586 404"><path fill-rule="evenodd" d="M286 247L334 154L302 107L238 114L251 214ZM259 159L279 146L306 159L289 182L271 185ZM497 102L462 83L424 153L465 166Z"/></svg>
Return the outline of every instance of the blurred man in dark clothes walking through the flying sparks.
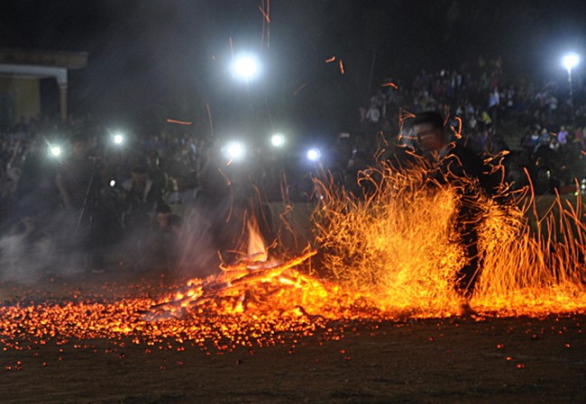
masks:
<svg viewBox="0 0 586 404"><path fill-rule="evenodd" d="M459 197L454 225L466 264L458 271L454 287L463 298L470 299L482 265L478 251L478 233L483 220L479 200L482 194L494 195L498 184L480 157L449 141L444 122L438 112L421 112L414 119L413 130L419 147L434 168L435 183L453 185Z"/></svg>

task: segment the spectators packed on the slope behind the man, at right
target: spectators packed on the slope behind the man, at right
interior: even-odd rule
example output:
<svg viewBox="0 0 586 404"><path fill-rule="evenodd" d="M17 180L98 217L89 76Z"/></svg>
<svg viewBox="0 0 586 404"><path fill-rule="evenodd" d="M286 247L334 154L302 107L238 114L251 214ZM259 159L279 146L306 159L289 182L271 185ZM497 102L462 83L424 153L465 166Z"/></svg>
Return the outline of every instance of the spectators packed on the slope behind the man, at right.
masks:
<svg viewBox="0 0 586 404"><path fill-rule="evenodd" d="M479 155L509 152L505 168L514 189L531 179L540 184L536 193L575 190L575 181L586 177L586 103L583 88L576 87L571 98L565 82L508 76L501 58L479 57L453 71L422 70L410 85L387 80L361 110L362 130L391 138L398 133L404 146L417 148L403 118L444 112L454 140ZM550 185L541 184L542 177Z"/></svg>

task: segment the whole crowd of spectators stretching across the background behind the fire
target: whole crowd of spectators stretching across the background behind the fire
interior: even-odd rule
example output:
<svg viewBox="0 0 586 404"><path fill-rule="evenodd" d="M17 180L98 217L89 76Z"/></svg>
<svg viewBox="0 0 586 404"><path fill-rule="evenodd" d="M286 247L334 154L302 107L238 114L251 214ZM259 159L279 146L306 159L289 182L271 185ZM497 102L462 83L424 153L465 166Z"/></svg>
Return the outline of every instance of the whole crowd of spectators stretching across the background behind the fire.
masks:
<svg viewBox="0 0 586 404"><path fill-rule="evenodd" d="M480 58L459 70L421 71L410 85L387 80L361 111L362 130L336 136L313 165L300 153L261 147L246 164L228 164L220 139L183 125L115 144L112 129L90 115L22 120L0 133L3 271L101 272L112 248L134 269L182 262L213 269L217 251L242 237L252 199L311 202L312 177L323 169L361 193L360 170L417 148L405 118L426 110L444 112L453 139L480 155L508 150L512 188L531 179L536 193L575 191L586 177L586 104L572 103L554 82L514 82L502 65ZM59 156L50 153L57 145Z"/></svg>

